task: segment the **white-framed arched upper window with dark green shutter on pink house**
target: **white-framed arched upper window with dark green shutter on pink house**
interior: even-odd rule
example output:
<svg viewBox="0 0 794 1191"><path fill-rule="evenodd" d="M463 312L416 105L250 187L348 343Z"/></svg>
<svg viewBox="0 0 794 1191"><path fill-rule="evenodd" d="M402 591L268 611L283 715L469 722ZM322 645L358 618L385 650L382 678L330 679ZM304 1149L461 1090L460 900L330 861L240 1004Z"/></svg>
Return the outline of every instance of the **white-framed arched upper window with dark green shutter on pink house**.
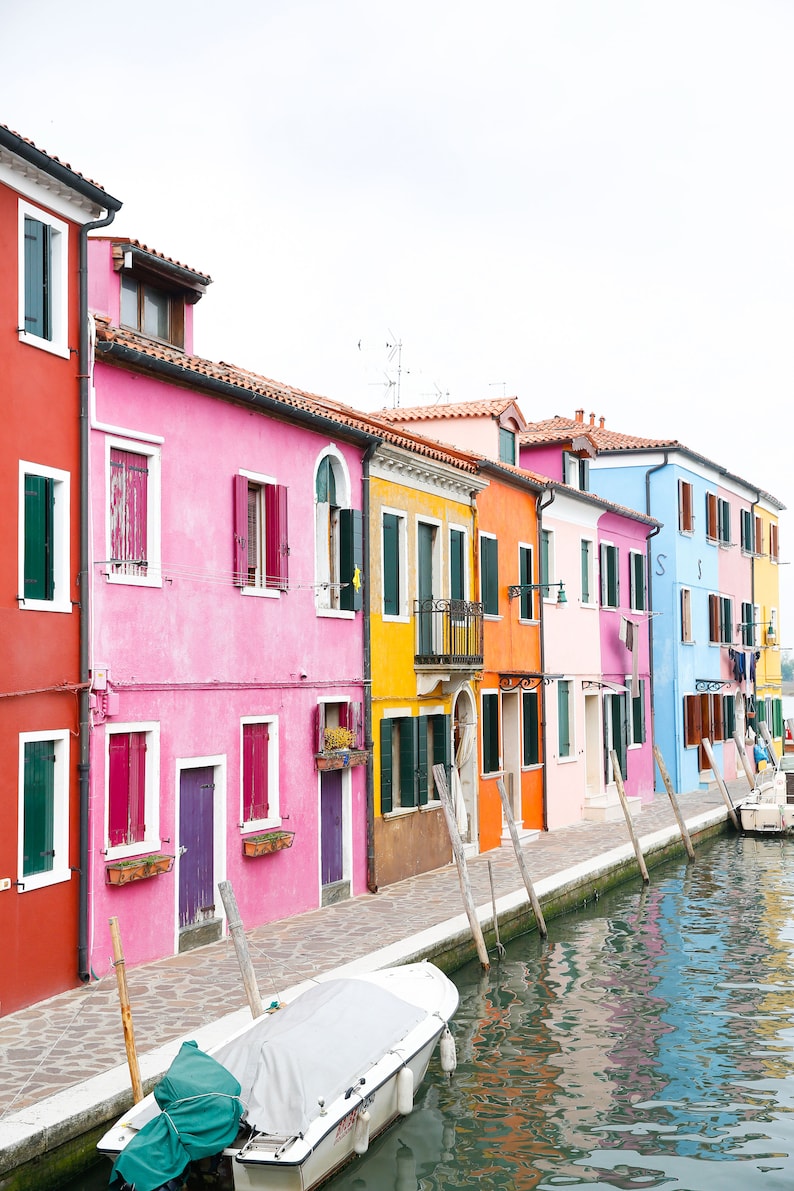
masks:
<svg viewBox="0 0 794 1191"><path fill-rule="evenodd" d="M314 475L315 605L357 612L362 607L362 515L350 509L350 480L336 450L320 456Z"/></svg>

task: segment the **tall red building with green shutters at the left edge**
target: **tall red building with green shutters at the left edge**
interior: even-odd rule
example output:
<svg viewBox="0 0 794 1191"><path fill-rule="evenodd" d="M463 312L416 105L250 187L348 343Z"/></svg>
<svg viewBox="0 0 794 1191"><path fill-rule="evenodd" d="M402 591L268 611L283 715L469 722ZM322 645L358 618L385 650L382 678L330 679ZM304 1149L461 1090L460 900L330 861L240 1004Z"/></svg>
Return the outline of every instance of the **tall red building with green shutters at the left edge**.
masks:
<svg viewBox="0 0 794 1191"><path fill-rule="evenodd" d="M88 979L81 282L119 207L0 126L0 1015Z"/></svg>

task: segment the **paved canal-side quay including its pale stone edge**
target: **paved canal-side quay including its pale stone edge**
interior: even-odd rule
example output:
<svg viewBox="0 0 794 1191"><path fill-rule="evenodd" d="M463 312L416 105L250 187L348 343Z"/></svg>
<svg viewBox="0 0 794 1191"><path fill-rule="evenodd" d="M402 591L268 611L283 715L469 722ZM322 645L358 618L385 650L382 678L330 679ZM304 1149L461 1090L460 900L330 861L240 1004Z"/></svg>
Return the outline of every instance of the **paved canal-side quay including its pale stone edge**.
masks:
<svg viewBox="0 0 794 1191"><path fill-rule="evenodd" d="M729 788L737 802L748 787L731 782ZM715 786L681 794L679 804L690 830L727 816ZM643 850L677 837L669 799L657 793L634 828ZM633 858L623 817L542 833L523 853L542 902L582 875ZM526 902L509 843L471 858L468 868L481 919L492 917L489 871L500 917ZM433 954L442 940L467 930L457 871L449 865L376 894L257 927L246 937L267 1006L340 968L371 969ZM20 1155L43 1153L63 1140L69 1120L100 1121L102 1109L112 1106L114 1115L115 1103L130 1095L110 930L107 956L90 984L0 1018L0 1185L2 1172ZM165 1070L183 1037L208 1047L250 1019L231 940L130 968L127 986L144 1083Z"/></svg>

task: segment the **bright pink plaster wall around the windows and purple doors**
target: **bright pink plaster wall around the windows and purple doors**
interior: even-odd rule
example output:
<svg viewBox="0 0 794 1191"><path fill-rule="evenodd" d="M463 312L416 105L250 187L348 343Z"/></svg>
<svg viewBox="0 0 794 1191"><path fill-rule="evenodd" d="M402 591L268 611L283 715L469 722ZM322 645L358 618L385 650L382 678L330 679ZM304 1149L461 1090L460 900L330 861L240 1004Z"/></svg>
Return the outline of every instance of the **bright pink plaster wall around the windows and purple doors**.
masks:
<svg viewBox="0 0 794 1191"><path fill-rule="evenodd" d="M96 418L163 438L162 587L111 584L92 568L92 663L110 667L117 723L161 725L162 850L173 852L176 759L221 755L226 802L215 880L230 879L246 927L313 909L320 900L319 775L313 709L318 698L363 700L362 613L319 617L314 604L314 467L329 438L250 407L95 366ZM106 434L90 448L93 554L106 541ZM136 439L129 439L135 449ZM361 449L337 443L361 507ZM289 584L277 598L243 596L232 584L232 476L256 472L288 486ZM301 676L305 674L305 676ZM256 860L240 846L242 716L279 716L282 825L293 847ZM171 954L177 868L121 888L104 884L105 731L92 737L92 956L107 956L106 923L120 919L130 964ZM352 892L365 887L365 767L349 771ZM177 862L179 863L179 862ZM217 902L220 908L220 898Z"/></svg>

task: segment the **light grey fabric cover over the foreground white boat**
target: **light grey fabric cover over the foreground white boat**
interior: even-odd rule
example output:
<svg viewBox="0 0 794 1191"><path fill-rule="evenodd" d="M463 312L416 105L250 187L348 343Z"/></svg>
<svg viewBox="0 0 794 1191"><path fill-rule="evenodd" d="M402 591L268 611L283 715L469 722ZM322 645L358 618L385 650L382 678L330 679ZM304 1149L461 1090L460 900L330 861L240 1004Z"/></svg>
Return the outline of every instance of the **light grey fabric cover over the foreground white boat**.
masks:
<svg viewBox="0 0 794 1191"><path fill-rule="evenodd" d="M319 1116L320 1099L330 1105L425 1017L427 1010L368 980L327 980L213 1055L239 1081L255 1129L296 1137Z"/></svg>

